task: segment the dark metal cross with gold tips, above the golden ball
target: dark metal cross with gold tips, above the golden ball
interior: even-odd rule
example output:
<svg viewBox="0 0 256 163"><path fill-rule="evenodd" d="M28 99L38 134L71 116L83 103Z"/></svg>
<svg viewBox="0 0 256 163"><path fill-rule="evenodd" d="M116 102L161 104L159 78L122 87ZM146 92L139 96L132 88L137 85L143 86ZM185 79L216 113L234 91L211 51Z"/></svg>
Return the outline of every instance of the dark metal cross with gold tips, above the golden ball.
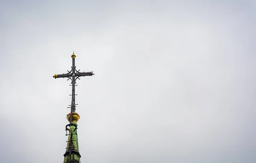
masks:
<svg viewBox="0 0 256 163"><path fill-rule="evenodd" d="M77 94L75 94L75 85L76 84L76 80L79 79L79 77L84 77L84 76L93 76L93 71L91 72L79 72L80 70L76 70L76 66L75 66L75 58L76 58L76 55L73 54L71 55L72 57L72 67L71 67L71 70L68 71L67 74L54 74L53 77L56 79L56 78L59 78L59 77L67 77L68 79L67 80L71 80L71 84L70 86L72 86L72 100L71 100L71 113L72 112L76 112L76 103L75 103L75 96ZM80 80L80 79L79 79ZM71 116L72 117L72 116Z"/></svg>

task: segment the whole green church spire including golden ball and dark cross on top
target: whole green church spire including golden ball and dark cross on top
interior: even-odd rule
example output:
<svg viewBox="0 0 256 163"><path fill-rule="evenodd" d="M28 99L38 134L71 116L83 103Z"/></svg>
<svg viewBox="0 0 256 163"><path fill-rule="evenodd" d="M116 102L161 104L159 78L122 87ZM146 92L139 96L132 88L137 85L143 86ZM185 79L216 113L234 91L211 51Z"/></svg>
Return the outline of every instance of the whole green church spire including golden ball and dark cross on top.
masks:
<svg viewBox="0 0 256 163"><path fill-rule="evenodd" d="M76 70L75 66L75 58L76 55L71 55L72 57L72 67L71 70L68 71L67 74L54 74L53 77L59 78L59 77L67 77L67 80L71 80L70 86L72 86L72 94L71 96L71 105L70 107L70 113L67 114L67 120L69 121L69 124L66 125L66 135L68 136L67 140L67 148L66 152L64 154L64 163L80 163L80 153L79 153L79 146L78 146L78 136L77 136L77 121L79 120L80 116L78 113L76 113L76 103L75 103L75 86L76 85L76 79L79 79L79 77L83 76L93 76L93 71L91 72L79 72L80 70Z"/></svg>

